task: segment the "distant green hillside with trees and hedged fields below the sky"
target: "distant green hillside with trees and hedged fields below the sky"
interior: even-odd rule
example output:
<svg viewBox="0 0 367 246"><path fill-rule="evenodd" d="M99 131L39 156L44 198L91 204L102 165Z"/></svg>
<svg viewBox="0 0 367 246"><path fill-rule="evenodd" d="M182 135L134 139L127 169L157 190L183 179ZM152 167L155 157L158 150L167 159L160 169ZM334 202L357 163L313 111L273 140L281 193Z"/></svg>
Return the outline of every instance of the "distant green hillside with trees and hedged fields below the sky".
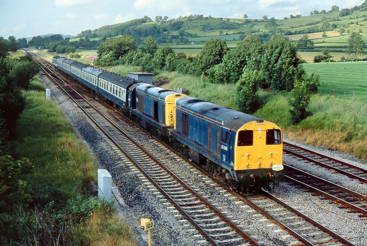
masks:
<svg viewBox="0 0 367 246"><path fill-rule="evenodd" d="M352 6L351 6L352 7ZM190 15L180 16L161 21L153 21L148 16L134 19L115 25L102 26L95 30L85 30L76 37L110 38L119 35L130 34L138 44L147 36L152 36L161 45L184 44L194 41L201 44L211 38L221 38L227 41L235 41L243 38L248 33L256 33L264 41L272 34L283 34L297 41L302 34L307 33L310 39L315 39L315 48L333 46L335 39L340 36L340 30L344 29L345 37L341 40L341 46L346 46L348 33L360 31L367 33L367 7L366 2L360 6L340 11L320 11L323 14L301 16L295 18L274 19L234 19L213 18L212 16ZM318 12L318 11L317 11ZM157 16L158 17L158 16ZM326 32L326 37L322 37ZM242 35L241 35L242 34ZM343 37L343 36L342 36ZM367 41L367 37L364 37ZM72 39L70 41L74 41ZM197 43L199 41L199 43ZM235 43L235 42L234 42ZM229 46L231 46L229 44Z"/></svg>

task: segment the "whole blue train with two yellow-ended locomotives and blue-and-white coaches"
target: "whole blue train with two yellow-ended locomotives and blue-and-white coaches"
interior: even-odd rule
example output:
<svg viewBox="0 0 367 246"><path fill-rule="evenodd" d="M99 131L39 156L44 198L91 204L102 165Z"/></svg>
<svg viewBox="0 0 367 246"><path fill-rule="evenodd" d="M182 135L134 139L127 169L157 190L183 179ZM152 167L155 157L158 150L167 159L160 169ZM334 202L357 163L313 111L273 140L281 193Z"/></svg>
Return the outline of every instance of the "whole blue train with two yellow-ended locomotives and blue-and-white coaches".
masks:
<svg viewBox="0 0 367 246"><path fill-rule="evenodd" d="M52 63L237 191L283 180L276 124L66 57Z"/></svg>

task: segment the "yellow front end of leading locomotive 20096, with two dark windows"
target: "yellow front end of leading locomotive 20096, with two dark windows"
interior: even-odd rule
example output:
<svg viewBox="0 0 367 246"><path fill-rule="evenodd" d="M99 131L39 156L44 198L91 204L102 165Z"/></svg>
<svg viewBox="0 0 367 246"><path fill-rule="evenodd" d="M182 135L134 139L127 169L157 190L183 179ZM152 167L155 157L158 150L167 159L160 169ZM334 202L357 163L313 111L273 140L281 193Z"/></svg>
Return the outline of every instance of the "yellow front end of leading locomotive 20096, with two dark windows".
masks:
<svg viewBox="0 0 367 246"><path fill-rule="evenodd" d="M281 129L266 120L244 124L236 134L235 167L244 184L282 181L283 144Z"/></svg>

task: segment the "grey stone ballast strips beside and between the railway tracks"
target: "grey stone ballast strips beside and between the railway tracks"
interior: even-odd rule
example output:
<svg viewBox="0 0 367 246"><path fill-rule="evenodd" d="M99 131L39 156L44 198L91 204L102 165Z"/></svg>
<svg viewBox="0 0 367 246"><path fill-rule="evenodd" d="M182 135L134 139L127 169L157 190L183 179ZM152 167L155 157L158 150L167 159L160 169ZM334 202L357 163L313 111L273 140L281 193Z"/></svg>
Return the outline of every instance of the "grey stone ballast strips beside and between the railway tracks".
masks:
<svg viewBox="0 0 367 246"><path fill-rule="evenodd" d="M101 167L108 169L113 176L113 182L121 194L119 211L122 219L132 227L138 244L148 245L148 235L140 226L140 218L147 217L155 220L156 228L152 230L153 245L208 245L205 242L197 243L197 241L204 240L203 236L164 197L161 197L154 187L142 181L138 173L131 169L127 165L128 163L112 150L108 141L105 141L96 133L87 122L86 116L50 79L44 75L41 78L46 83L47 88L51 89L52 98L58 101L60 107L65 111L65 115L70 119L76 133L90 148L91 153L96 156ZM100 106L98 109L103 110ZM118 124L121 127L126 127L122 121L119 121ZM169 149L152 139L148 134L137 130L137 128L131 128L130 132L137 142L149 149L157 159L186 180L190 186L199 190L201 195L207 197L220 210L226 211L226 215L230 219L243 225L243 230L257 241L261 241L262 245L291 245L296 240L293 237L286 237L287 232L285 231L277 231L279 227L271 226L272 223L264 220L263 216L251 212L251 209L243 202L238 201L238 198L229 194L222 187L216 187L216 183L210 178L175 156ZM310 147L306 146L306 148ZM328 152L327 154L343 160L357 161L342 153ZM347 186L349 189L367 194L365 184L354 182L349 178L342 177L342 175L324 171L325 169L314 166L309 167L307 163L299 163L299 161L289 157L285 157L284 162L305 170L312 168L316 175L322 175L330 181L335 180L338 184ZM363 163L359 164L364 165ZM275 193L280 195L286 202L294 204L313 219L319 220L322 224L347 238L352 238L352 241L356 242L357 245L367 245L367 238L364 233L367 230L367 221L358 217L358 214L348 213L347 209L339 209L338 205L330 204L328 200L321 200L319 196L310 196L307 190L292 186L291 183L281 183Z"/></svg>

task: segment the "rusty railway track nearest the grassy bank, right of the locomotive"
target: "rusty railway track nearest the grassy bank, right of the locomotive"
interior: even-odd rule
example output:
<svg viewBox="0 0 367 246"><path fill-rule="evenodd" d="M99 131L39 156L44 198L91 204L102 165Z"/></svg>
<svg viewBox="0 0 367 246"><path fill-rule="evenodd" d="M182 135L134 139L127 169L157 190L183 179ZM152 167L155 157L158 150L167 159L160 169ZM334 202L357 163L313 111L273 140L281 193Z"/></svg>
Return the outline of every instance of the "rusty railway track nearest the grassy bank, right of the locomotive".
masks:
<svg viewBox="0 0 367 246"><path fill-rule="evenodd" d="M367 183L367 169L283 141L283 153Z"/></svg>

